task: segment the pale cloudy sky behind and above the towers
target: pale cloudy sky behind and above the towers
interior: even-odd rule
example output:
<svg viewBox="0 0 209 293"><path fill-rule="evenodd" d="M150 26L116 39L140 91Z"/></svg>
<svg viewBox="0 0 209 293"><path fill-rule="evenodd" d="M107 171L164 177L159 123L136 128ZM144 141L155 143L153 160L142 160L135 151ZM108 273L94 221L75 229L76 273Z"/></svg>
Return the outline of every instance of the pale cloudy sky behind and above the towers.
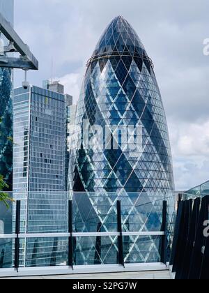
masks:
<svg viewBox="0 0 209 293"><path fill-rule="evenodd" d="M51 78L53 59L54 79L76 102L86 61L102 31L123 15L155 64L176 190L185 190L209 180L209 56L203 54L208 11L208 0L15 0L15 29L40 62L29 81L40 86ZM15 73L15 86L23 77Z"/></svg>

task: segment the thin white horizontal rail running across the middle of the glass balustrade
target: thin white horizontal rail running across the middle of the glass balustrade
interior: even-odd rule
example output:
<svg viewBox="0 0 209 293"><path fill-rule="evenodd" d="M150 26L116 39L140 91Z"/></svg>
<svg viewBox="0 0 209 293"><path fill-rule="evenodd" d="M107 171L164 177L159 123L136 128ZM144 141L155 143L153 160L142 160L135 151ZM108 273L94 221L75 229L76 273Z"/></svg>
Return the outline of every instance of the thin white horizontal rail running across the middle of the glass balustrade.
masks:
<svg viewBox="0 0 209 293"><path fill-rule="evenodd" d="M164 236L165 232L123 232L123 236ZM75 232L73 237L93 237L93 236L119 236L118 232ZM38 233L38 234L19 234L19 238L52 238L70 237L70 233ZM15 239L16 234L0 234L0 239Z"/></svg>

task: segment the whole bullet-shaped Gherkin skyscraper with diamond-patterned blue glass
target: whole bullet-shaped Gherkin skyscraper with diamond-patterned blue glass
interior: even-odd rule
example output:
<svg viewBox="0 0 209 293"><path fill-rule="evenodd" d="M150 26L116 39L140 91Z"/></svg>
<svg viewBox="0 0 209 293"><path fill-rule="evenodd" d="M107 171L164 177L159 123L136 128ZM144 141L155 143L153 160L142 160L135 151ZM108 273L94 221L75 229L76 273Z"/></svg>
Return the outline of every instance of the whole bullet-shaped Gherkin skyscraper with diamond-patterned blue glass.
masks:
<svg viewBox="0 0 209 293"><path fill-rule="evenodd" d="M161 199L174 189L167 121L153 63L121 16L109 24L87 63L76 124L69 174L69 188L77 192L75 229L113 231L121 200L125 232L160 230ZM158 260L157 237L124 241L125 262ZM86 253L77 242L78 264L116 261L114 237L85 245Z"/></svg>

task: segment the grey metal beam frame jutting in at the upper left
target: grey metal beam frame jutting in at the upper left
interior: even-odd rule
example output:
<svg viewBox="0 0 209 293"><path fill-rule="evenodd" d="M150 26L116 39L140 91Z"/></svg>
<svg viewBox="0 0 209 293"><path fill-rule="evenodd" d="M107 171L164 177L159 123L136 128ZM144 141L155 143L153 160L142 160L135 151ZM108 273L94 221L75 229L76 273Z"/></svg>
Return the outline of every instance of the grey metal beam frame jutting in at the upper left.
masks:
<svg viewBox="0 0 209 293"><path fill-rule="evenodd" d="M3 48L4 52L19 52L20 58L0 55L0 67L19 68L23 70L38 70L38 60L33 56L20 36L15 32L5 17L0 13L0 31L10 41L10 45Z"/></svg>

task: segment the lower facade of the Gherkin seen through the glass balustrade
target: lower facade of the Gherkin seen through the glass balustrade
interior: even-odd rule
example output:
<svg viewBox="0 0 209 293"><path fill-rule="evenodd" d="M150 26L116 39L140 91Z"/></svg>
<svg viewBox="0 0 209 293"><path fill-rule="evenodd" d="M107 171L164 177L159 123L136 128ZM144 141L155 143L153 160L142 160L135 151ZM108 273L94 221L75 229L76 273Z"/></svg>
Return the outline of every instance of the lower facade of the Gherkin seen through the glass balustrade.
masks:
<svg viewBox="0 0 209 293"><path fill-rule="evenodd" d="M162 227L162 203L167 195L147 193L73 193L73 231L77 233L117 232L117 200L121 200L124 232L159 232ZM173 197L169 198L170 202ZM160 262L160 236L123 236L125 264ZM74 262L84 264L116 264L117 236L78 237Z"/></svg>

